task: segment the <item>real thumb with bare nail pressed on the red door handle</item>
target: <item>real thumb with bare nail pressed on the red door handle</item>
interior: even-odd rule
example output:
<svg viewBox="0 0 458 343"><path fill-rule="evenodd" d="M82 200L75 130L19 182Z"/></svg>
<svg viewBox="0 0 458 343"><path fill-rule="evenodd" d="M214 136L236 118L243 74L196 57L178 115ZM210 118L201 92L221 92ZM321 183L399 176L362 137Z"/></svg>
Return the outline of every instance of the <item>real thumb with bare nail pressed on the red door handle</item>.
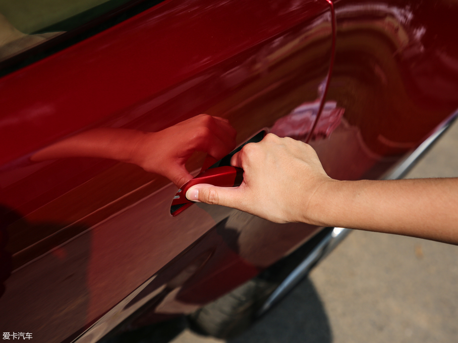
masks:
<svg viewBox="0 0 458 343"><path fill-rule="evenodd" d="M186 198L191 201L240 209L239 187L217 187L206 183L199 183L188 189Z"/></svg>

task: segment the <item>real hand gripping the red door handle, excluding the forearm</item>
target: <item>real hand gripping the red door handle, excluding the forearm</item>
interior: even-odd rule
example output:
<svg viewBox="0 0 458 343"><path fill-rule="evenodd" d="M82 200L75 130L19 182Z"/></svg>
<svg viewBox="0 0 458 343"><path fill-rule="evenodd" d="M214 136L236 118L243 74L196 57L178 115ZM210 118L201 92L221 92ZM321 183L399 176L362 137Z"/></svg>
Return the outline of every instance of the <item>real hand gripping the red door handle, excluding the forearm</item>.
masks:
<svg viewBox="0 0 458 343"><path fill-rule="evenodd" d="M308 144L270 133L235 154L231 165L244 170L239 187L198 184L186 197L192 201L235 208L277 223L320 225L317 192L334 182Z"/></svg>

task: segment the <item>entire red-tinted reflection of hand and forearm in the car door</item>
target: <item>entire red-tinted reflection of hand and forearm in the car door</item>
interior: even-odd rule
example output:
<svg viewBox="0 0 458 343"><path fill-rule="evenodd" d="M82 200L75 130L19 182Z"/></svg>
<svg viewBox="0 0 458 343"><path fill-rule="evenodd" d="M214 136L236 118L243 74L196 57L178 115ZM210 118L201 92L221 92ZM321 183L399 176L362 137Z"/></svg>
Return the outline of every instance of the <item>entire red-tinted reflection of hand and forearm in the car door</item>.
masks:
<svg viewBox="0 0 458 343"><path fill-rule="evenodd" d="M194 152L219 160L236 147L235 138L236 130L227 119L200 114L158 132L91 129L40 150L31 160L108 158L136 164L180 187L193 178L185 164Z"/></svg>

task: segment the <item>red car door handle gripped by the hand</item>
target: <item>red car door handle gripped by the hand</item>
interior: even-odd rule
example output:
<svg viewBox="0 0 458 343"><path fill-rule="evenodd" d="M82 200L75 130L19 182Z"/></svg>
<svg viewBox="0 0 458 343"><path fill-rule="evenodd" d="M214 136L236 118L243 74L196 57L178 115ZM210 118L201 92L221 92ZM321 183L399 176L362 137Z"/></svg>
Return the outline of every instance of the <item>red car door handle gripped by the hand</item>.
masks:
<svg viewBox="0 0 458 343"><path fill-rule="evenodd" d="M222 166L206 169L194 179L186 182L181 189L178 190L172 201L170 214L175 217L194 203L186 198L186 192L191 186L198 183L209 183L219 187L237 187L242 181L243 169L241 168Z"/></svg>

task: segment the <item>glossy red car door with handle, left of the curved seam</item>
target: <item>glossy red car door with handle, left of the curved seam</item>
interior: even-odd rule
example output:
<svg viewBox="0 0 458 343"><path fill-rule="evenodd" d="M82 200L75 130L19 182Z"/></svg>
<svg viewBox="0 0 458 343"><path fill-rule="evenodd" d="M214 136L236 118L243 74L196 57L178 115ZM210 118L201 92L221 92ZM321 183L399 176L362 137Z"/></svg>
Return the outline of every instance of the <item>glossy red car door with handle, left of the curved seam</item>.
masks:
<svg viewBox="0 0 458 343"><path fill-rule="evenodd" d="M232 125L234 146L263 129L306 138L328 81L328 2L177 0L113 5L98 17L87 6L75 11L61 22L90 20L15 52L0 79L0 322L43 342L72 340L94 323L98 331L83 338L95 341L158 294L151 320L189 313L317 231L275 230L204 204L171 216L177 186L168 165L127 163L120 137L157 132L149 156L173 160L186 150L193 175L227 133L212 129L214 116ZM190 137L189 122L200 135ZM94 143L105 133L108 144ZM199 137L211 144L196 144Z"/></svg>

